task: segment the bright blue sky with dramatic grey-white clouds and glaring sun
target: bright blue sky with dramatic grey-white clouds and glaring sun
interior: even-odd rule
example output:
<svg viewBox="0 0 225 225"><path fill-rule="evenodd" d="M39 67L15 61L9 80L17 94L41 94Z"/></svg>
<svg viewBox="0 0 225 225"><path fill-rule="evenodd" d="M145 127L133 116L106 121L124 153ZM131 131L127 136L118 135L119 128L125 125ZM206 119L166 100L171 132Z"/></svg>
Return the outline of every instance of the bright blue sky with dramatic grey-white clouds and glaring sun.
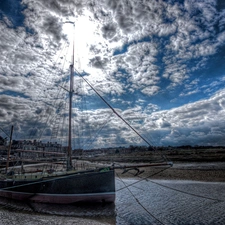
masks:
<svg viewBox="0 0 225 225"><path fill-rule="evenodd" d="M225 144L224 0L1 0L1 136L64 143L73 37L74 147L145 144L79 75L152 145Z"/></svg>

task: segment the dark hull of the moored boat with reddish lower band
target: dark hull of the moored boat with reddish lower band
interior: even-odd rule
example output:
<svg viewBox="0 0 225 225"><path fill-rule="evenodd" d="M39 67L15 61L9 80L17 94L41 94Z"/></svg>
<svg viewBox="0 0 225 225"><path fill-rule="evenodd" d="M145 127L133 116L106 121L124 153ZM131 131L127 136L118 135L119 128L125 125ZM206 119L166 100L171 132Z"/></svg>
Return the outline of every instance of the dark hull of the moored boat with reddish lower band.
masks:
<svg viewBox="0 0 225 225"><path fill-rule="evenodd" d="M56 204L115 201L114 170L75 173L19 185L1 181L0 187L0 196L22 201Z"/></svg>

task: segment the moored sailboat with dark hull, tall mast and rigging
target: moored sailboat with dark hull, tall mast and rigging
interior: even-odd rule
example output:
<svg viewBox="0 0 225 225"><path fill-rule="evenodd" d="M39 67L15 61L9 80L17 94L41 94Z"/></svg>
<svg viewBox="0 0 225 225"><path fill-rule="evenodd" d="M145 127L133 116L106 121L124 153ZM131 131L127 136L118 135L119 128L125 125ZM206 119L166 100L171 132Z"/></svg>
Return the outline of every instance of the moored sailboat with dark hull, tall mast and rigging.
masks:
<svg viewBox="0 0 225 225"><path fill-rule="evenodd" d="M74 77L74 50L72 63L70 65L70 88L68 90L69 135L68 135L66 171L64 172L55 171L53 173L47 172L43 173L37 171L32 173L16 174L13 171L8 172L8 163L7 163L6 173L4 175L1 175L0 177L1 197L22 201L55 203L55 204L72 204L78 202L105 203L115 201L114 171L115 169L121 167L108 166L90 170L77 171L74 170L72 166L71 121L72 121L72 98L74 93L73 77ZM98 94L97 91L95 92ZM101 96L99 95L99 97ZM103 98L102 100L105 101ZM105 103L113 110L114 113L116 113L116 111L106 101ZM128 126L130 126L120 115L117 114L117 116L119 116ZM137 131L134 128L132 128L131 126L130 128L137 133ZM147 140L145 141L147 142ZM11 140L9 146L10 145ZM8 151L8 159L9 154L10 150ZM157 164L157 166L158 165L160 166L165 164L160 163ZM125 167L122 168L125 169Z"/></svg>

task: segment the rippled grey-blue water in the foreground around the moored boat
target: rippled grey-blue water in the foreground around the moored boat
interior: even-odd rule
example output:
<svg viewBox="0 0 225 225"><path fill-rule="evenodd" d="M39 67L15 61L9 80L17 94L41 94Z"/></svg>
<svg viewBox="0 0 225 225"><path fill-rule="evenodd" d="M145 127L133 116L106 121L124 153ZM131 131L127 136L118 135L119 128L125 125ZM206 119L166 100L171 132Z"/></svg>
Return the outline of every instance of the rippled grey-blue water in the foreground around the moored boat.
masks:
<svg viewBox="0 0 225 225"><path fill-rule="evenodd" d="M225 182L116 179L110 205L25 204L0 199L2 224L225 224Z"/></svg>

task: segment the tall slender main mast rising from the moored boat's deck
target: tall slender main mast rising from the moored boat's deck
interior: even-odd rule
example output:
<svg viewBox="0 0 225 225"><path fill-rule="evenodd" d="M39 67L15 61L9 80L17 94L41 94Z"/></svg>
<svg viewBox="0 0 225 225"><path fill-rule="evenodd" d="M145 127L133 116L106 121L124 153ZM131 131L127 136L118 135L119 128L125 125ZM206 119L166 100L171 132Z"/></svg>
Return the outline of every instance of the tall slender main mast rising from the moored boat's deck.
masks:
<svg viewBox="0 0 225 225"><path fill-rule="evenodd" d="M75 24L73 24L75 28ZM75 30L75 29L74 29ZM72 99L73 99L73 77L74 77L74 34L73 34L73 52L70 65L70 89L69 89L69 135L67 151L67 170L72 168Z"/></svg>

